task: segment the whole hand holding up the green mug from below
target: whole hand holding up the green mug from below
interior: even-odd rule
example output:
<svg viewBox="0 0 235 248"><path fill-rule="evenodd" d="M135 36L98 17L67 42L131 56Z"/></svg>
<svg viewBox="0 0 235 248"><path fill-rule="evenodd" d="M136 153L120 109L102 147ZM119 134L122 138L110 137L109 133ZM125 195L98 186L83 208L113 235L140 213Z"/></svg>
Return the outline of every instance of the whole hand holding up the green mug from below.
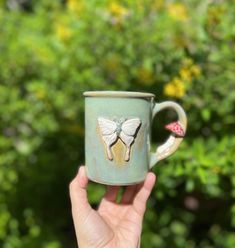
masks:
<svg viewBox="0 0 235 248"><path fill-rule="evenodd" d="M85 166L69 186L72 216L79 248L140 247L142 221L146 202L156 181L149 172L143 183L127 186L117 203L118 186L107 186L98 210L87 198L88 178Z"/></svg>

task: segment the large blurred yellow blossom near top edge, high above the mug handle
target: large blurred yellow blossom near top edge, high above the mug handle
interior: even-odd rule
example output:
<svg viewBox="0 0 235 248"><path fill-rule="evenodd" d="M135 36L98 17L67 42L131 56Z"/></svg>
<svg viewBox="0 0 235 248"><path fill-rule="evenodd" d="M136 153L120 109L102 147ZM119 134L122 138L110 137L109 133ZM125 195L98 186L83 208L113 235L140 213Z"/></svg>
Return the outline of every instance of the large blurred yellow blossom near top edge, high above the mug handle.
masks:
<svg viewBox="0 0 235 248"><path fill-rule="evenodd" d="M178 21L187 21L188 12L185 5L181 3L171 3L167 7L169 15Z"/></svg>

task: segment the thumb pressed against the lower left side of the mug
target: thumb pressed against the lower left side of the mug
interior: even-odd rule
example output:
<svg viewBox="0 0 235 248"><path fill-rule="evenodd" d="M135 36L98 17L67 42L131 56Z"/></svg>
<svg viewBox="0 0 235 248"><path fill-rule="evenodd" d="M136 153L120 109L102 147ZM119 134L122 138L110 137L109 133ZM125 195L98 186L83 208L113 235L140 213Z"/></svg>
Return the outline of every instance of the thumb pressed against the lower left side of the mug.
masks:
<svg viewBox="0 0 235 248"><path fill-rule="evenodd" d="M69 185L74 222L84 220L92 210L87 199L87 185L85 166L80 166L78 174Z"/></svg>

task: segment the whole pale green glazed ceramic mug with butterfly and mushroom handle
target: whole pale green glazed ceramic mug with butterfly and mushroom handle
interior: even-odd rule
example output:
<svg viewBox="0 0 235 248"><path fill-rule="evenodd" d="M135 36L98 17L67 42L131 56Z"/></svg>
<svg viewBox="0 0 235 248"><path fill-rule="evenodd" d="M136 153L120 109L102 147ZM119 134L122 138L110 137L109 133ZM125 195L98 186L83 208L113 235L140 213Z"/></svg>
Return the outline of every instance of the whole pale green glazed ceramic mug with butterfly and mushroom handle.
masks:
<svg viewBox="0 0 235 248"><path fill-rule="evenodd" d="M128 91L87 91L85 96L85 160L90 180L107 185L144 181L147 172L177 150L187 118L177 103L156 103L155 95ZM151 152L151 125L155 115L172 108L178 122L167 126L171 135Z"/></svg>

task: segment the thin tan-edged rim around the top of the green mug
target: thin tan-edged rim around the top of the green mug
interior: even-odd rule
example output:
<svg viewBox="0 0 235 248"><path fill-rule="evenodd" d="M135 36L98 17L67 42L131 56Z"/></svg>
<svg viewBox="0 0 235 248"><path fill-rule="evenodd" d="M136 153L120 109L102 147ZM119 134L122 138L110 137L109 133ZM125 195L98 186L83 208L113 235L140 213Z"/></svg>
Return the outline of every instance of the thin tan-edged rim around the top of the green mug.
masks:
<svg viewBox="0 0 235 248"><path fill-rule="evenodd" d="M137 91L85 91L83 93L85 97L133 97L133 98L154 98L155 95L148 92L137 92Z"/></svg>

